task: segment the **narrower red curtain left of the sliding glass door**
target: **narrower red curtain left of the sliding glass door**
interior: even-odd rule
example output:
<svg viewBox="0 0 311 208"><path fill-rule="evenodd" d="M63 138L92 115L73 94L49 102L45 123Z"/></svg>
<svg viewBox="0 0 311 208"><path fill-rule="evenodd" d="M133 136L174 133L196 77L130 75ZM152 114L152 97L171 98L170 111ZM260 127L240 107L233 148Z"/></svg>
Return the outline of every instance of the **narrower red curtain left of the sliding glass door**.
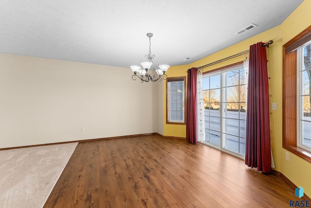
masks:
<svg viewBox="0 0 311 208"><path fill-rule="evenodd" d="M187 116L186 116L186 139L192 144L196 144L196 76L197 68L187 70Z"/></svg>

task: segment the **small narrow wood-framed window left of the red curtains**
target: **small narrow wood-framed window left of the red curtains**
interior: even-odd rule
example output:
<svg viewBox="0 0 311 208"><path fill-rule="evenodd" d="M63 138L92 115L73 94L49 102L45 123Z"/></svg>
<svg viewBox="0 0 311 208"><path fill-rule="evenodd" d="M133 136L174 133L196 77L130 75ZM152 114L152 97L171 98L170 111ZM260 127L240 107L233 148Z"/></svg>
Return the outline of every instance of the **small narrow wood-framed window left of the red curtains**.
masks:
<svg viewBox="0 0 311 208"><path fill-rule="evenodd" d="M185 124L185 79L167 78L166 123Z"/></svg>

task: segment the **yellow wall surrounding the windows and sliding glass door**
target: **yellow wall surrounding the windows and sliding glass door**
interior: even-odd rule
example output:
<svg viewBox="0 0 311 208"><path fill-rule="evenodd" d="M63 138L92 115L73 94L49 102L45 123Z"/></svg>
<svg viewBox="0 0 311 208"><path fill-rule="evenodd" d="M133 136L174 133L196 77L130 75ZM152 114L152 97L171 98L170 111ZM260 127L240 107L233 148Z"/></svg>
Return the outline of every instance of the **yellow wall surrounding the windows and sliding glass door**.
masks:
<svg viewBox="0 0 311 208"><path fill-rule="evenodd" d="M282 148L282 93L280 92L282 91L282 46L311 24L310 14L311 0L305 0L281 25L228 47L222 51L211 54L189 65L171 67L168 71L169 77L185 76L187 75L187 69L191 67L200 67L230 55L248 50L250 45L260 41L267 42L269 40L273 40L274 43L270 45L267 51L269 60L268 72L270 74L270 87L272 95L271 102L277 104L277 109L272 111L273 119L271 121L271 138L273 139L272 149L276 166L275 170L283 173L296 186L303 187L305 189L305 193L309 196L311 196L311 164L291 153L290 161L288 162L285 160L285 150ZM243 57L240 56L209 68L205 68L203 71L227 66L229 64L242 61L242 59ZM164 96L165 90L166 87L164 87ZM166 98L164 98L164 100L166 100ZM164 109L166 109L165 102ZM186 127L166 124L164 121L164 136L185 137Z"/></svg>

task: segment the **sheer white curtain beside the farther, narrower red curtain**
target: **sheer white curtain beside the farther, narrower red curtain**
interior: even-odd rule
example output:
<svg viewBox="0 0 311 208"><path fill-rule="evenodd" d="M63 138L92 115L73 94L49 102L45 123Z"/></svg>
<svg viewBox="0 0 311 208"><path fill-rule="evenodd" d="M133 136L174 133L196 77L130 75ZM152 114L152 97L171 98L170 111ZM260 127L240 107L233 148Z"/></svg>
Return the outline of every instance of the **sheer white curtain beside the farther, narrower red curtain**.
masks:
<svg viewBox="0 0 311 208"><path fill-rule="evenodd" d="M205 140L205 122L204 122L204 108L203 108L203 96L202 96L202 68L197 69L196 80L196 109L197 109L197 141L202 142Z"/></svg>

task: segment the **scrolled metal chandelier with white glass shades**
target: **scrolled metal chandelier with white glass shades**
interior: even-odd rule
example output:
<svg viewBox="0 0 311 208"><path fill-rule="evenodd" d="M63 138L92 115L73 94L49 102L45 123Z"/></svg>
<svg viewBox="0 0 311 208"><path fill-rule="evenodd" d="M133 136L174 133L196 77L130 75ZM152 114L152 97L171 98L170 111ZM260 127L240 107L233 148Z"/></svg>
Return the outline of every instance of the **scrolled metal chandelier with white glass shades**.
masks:
<svg viewBox="0 0 311 208"><path fill-rule="evenodd" d="M169 69L169 65L159 65L160 69L155 68L155 63L153 59L155 58L155 55L151 53L151 37L154 36L152 33L147 33L147 37L149 37L149 53L148 55L145 55L145 58L147 59L146 62L142 62L141 67L139 66L131 66L131 69L134 72L134 75L132 76L133 80L136 80L137 77L141 80L141 82L155 82L157 80L162 81L162 79L166 79L167 75L165 72L167 69ZM151 74L151 71L154 71L153 74Z"/></svg>

